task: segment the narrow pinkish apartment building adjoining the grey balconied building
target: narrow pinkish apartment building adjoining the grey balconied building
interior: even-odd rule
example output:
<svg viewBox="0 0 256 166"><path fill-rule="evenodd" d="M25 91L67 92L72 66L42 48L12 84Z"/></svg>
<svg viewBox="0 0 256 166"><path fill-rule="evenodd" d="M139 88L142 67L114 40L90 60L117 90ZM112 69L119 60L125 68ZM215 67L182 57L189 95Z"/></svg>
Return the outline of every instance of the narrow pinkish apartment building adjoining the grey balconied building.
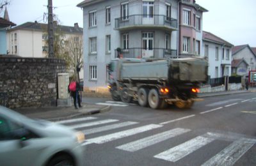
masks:
<svg viewBox="0 0 256 166"><path fill-rule="evenodd" d="M204 56L202 23L207 11L195 0L179 1L179 57Z"/></svg>

